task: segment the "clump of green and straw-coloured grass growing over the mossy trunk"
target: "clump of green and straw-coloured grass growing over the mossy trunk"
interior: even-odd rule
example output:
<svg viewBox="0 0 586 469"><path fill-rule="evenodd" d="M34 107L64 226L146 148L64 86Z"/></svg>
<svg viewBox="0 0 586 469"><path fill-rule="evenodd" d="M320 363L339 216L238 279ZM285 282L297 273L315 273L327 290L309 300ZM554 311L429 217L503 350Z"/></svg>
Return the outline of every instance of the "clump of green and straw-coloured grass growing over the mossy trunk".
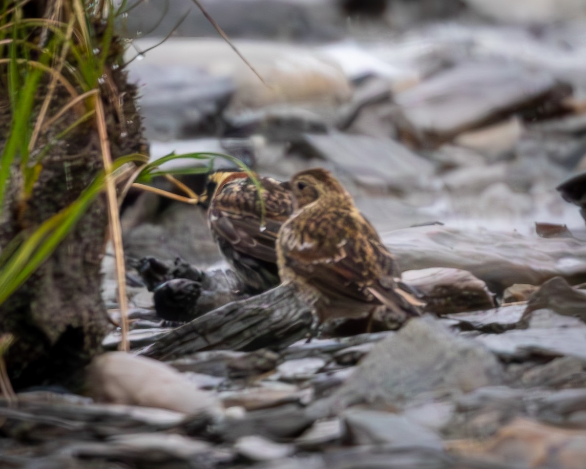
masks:
<svg viewBox="0 0 586 469"><path fill-rule="evenodd" d="M195 194L181 185L175 176L208 172L215 158L226 158L248 173L259 194L262 189L250 169L229 155L171 154L149 162L147 155L131 154L113 161L104 101L111 103L111 112L124 118L117 104L118 91L107 79L107 74L112 63L122 65L123 50L114 40L114 21L125 10L126 2L115 9L111 0L92 2L88 4L91 8L83 0L54 0L48 4L45 18L25 18L24 7L29 1L4 0L0 9L0 57L5 57L0 59L0 84L4 83L8 90L12 116L0 154L0 219L3 210L9 210L9 205L26 208L33 197L35 183L42 175L46 158L60 142L83 130L84 126L90 125L97 130L103 171L76 200L38 226L22 230L2 250L0 305L51 256L94 200L105 192L119 284L121 343L122 349L127 350L127 295L117 183L125 183L122 194L132 183L155 191L148 183L156 176L163 176L182 188L186 197L162 195L196 203ZM93 27L96 24L100 25L99 34ZM69 100L64 104L56 100L58 87L69 94ZM59 109L54 111L56 106ZM50 115L52 110L54 112ZM69 117L66 126L63 125L65 117ZM164 162L177 158L207 160L207 164L201 168L159 169ZM8 193L16 200L8 200ZM260 200L264 217L264 204Z"/></svg>

